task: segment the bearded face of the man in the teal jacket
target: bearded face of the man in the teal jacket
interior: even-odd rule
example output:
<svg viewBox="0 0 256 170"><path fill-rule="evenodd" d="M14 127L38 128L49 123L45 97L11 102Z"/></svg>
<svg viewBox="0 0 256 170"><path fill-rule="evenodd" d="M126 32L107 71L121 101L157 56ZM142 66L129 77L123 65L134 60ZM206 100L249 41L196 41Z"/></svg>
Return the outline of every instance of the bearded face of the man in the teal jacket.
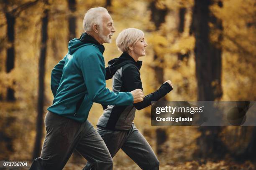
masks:
<svg viewBox="0 0 256 170"><path fill-rule="evenodd" d="M113 25L113 20L108 13L102 15L102 24L100 25L99 35L102 39L102 43L111 43L111 38L115 28Z"/></svg>

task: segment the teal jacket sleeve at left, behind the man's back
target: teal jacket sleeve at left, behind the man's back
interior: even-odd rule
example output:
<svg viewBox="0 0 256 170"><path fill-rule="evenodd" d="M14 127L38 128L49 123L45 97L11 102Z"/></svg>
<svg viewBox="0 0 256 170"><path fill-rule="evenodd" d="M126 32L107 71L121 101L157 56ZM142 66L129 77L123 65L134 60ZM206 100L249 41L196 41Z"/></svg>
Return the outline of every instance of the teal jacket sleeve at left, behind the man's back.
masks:
<svg viewBox="0 0 256 170"><path fill-rule="evenodd" d="M54 97L56 96L57 89L59 87L59 82L62 76L62 69L66 62L67 55L59 61L57 65L54 66L53 70L51 71L51 91Z"/></svg>

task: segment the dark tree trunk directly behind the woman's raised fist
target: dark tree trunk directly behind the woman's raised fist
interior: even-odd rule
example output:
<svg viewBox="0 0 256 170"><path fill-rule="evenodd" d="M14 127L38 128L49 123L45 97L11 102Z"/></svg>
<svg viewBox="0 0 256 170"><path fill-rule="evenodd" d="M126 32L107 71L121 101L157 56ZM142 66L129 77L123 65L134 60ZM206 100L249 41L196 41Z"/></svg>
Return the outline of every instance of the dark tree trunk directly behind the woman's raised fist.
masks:
<svg viewBox="0 0 256 170"><path fill-rule="evenodd" d="M165 22L165 16L167 15L167 8L164 9L158 9L156 7L157 1L153 1L150 3L149 8L151 10L151 21L156 26L156 31L159 30L162 23ZM154 54L154 60L160 60L160 63L163 63L164 60L157 56L157 54ZM154 67L154 72L157 80L157 85L162 84L164 82L164 69L160 66ZM164 100L164 97L161 99ZM168 135L166 133L166 129L164 128L158 128L156 129L156 153L161 154L163 152L163 149L161 147L162 144L166 142L168 139Z"/></svg>

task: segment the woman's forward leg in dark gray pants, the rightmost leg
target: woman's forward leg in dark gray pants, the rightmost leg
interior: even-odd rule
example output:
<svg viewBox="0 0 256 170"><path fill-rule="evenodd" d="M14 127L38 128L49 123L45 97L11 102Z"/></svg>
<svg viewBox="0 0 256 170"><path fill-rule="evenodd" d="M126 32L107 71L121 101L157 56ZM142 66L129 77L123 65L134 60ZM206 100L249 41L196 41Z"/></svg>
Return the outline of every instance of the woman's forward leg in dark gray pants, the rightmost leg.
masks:
<svg viewBox="0 0 256 170"><path fill-rule="evenodd" d="M159 170L159 160L143 135L133 125L121 149L143 170Z"/></svg>

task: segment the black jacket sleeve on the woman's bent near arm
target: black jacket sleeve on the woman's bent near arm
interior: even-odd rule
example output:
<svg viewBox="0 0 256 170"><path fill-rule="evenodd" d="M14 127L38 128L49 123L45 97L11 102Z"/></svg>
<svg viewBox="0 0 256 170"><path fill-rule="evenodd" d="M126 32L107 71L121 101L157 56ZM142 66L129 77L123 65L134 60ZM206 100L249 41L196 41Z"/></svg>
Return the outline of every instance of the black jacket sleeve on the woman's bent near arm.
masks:
<svg viewBox="0 0 256 170"><path fill-rule="evenodd" d="M143 90L140 74L136 66L129 66L125 68L125 70L123 70L122 78L123 78L123 83L125 85L126 90L132 91L137 88L140 88ZM161 87L155 92L152 92L151 94L146 95L142 102L138 102L133 105L137 110L141 110L151 105L151 101L159 100L161 97L164 97L171 90L172 90L172 86L170 86L168 82L166 82L162 84Z"/></svg>

